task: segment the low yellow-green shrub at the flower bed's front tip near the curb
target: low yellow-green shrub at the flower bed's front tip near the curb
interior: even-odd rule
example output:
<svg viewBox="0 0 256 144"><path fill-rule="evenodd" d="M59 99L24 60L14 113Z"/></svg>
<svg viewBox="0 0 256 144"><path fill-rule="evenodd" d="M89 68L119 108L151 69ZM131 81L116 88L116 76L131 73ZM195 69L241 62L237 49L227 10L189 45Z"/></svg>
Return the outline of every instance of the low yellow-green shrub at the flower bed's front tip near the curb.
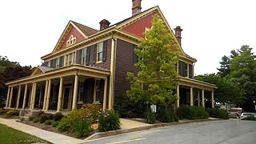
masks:
<svg viewBox="0 0 256 144"><path fill-rule="evenodd" d="M91 121L90 119L82 119L81 121L77 121L72 125L72 129L77 134L78 138L81 138L83 136L87 136L90 131Z"/></svg>

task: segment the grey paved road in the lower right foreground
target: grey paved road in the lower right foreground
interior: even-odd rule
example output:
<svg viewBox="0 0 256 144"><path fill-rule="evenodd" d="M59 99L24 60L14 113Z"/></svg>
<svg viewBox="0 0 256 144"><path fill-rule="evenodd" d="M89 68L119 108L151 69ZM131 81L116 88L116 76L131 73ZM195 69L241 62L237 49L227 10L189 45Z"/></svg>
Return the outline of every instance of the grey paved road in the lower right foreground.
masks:
<svg viewBox="0 0 256 144"><path fill-rule="evenodd" d="M85 144L256 144L256 122L225 120L143 130Z"/></svg>

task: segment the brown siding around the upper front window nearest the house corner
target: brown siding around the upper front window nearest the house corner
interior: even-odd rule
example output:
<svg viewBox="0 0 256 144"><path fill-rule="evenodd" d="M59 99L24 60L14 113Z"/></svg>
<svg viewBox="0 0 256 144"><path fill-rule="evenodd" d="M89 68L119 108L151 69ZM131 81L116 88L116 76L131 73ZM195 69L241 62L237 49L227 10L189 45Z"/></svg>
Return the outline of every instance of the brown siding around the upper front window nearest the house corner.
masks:
<svg viewBox="0 0 256 144"><path fill-rule="evenodd" d="M94 50L90 48L90 66L97 66L110 70L110 61L111 61L111 39L106 40L106 61L101 63L94 64Z"/></svg>

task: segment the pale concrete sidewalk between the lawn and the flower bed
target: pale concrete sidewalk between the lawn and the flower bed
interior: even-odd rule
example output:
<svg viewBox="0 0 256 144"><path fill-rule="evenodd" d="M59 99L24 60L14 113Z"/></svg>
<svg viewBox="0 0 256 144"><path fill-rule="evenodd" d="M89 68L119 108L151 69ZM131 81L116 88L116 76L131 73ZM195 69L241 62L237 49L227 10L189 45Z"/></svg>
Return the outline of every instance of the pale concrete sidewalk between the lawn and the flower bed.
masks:
<svg viewBox="0 0 256 144"><path fill-rule="evenodd" d="M83 142L81 139L72 138L62 134L56 134L50 131L38 129L34 126L28 126L21 122L16 122L18 119L5 119L0 118L0 123L6 126L10 126L16 130L21 130L27 134L35 135L38 138L42 138L46 141L55 143L55 144L75 144Z"/></svg>

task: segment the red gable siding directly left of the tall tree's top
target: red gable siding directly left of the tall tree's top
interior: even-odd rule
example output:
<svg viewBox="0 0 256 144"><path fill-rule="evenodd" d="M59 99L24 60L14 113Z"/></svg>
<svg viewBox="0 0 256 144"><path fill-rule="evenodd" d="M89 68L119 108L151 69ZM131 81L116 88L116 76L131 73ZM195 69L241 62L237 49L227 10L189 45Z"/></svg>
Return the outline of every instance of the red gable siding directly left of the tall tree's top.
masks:
<svg viewBox="0 0 256 144"><path fill-rule="evenodd" d="M154 17L154 13L146 15L146 17L141 18L138 21L136 21L128 26L125 26L124 28L122 28L122 30L125 30L131 34L135 34L138 37L145 38L143 33L145 32L146 27L151 28L153 17Z"/></svg>

